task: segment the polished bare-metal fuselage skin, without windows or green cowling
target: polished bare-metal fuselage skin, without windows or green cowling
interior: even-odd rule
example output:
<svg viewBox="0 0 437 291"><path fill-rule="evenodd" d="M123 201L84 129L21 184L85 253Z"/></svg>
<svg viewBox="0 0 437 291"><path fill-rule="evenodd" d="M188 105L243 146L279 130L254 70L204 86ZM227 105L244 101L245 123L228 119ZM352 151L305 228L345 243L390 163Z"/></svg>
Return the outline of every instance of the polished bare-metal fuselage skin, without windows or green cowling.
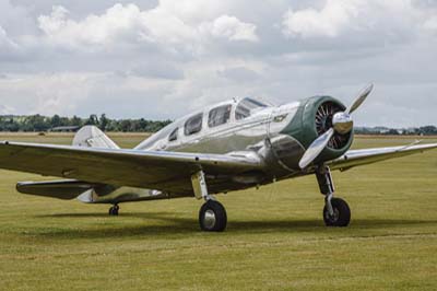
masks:
<svg viewBox="0 0 437 291"><path fill-rule="evenodd" d="M226 183L231 181L231 184L235 184L229 187L229 190L269 184L276 179L300 174L298 160L305 152L305 148L298 140L281 132L294 120L302 103L293 102L282 106L271 105L258 109L247 118L236 119L235 110L240 101L234 98L214 104L204 108L204 110L194 112L179 118L149 137L134 150L257 155L264 161L265 172L262 177L259 174L232 177L231 179L226 177ZM209 112L223 105L232 105L228 121L216 127L209 127ZM170 132L176 128L184 129L187 119L199 113L203 113L200 132L187 136L184 130L179 130L177 139L169 141ZM93 191L93 202L134 201L167 197L162 191L131 187L117 188L110 193Z"/></svg>

